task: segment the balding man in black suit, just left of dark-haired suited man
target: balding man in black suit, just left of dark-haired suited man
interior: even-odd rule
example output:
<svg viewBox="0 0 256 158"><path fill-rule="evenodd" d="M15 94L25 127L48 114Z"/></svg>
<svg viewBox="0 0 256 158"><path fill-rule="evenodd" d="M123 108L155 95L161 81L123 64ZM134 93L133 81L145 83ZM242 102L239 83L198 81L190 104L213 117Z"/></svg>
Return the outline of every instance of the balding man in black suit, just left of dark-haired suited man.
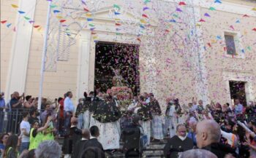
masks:
<svg viewBox="0 0 256 158"><path fill-rule="evenodd" d="M82 130L82 139L75 144L75 148L72 153L72 157L80 157L80 154L84 150L84 146L90 139L90 131L88 129Z"/></svg>

